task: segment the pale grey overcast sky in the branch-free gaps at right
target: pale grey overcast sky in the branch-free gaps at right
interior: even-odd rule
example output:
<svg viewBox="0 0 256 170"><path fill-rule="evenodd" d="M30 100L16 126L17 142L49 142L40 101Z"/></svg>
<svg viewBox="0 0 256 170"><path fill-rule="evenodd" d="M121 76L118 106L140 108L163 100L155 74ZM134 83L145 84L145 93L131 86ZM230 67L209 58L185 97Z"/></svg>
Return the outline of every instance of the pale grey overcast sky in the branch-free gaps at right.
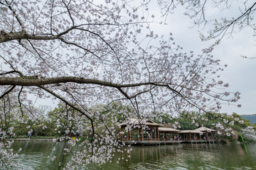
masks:
<svg viewBox="0 0 256 170"><path fill-rule="evenodd" d="M195 53L200 53L203 48L213 44L213 41L201 41L198 33L201 28L191 28L193 26L191 20L187 16L183 16L182 10L177 9L174 15L169 16L168 22L171 25L169 31L173 33L174 41L186 51L192 50ZM245 28L239 33L234 33L233 38L223 38L220 45L213 50L215 59L220 59L221 63L228 64L228 67L220 74L220 78L230 85L228 91L241 93L238 104L242 104L242 107L222 106L223 108L220 110L222 113L256 113L256 58L250 60L241 57L241 55L256 57L256 40L252 34L251 28Z"/></svg>

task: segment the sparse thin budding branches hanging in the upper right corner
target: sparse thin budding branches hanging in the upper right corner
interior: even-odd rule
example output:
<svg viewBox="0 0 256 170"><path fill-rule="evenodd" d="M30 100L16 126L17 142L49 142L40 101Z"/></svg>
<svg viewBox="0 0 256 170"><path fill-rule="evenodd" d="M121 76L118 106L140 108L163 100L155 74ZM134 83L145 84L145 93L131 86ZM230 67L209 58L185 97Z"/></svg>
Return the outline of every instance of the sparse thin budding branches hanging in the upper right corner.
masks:
<svg viewBox="0 0 256 170"><path fill-rule="evenodd" d="M183 6L184 14L193 19L193 24L206 28L207 33L201 33L202 40L217 39L218 43L225 35L230 38L244 28L251 28L255 35L256 3L252 0L159 0L159 5L163 16L175 13L176 7Z"/></svg>

